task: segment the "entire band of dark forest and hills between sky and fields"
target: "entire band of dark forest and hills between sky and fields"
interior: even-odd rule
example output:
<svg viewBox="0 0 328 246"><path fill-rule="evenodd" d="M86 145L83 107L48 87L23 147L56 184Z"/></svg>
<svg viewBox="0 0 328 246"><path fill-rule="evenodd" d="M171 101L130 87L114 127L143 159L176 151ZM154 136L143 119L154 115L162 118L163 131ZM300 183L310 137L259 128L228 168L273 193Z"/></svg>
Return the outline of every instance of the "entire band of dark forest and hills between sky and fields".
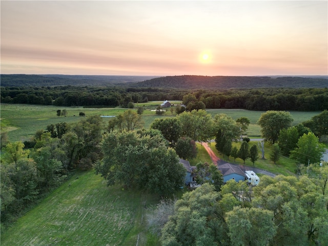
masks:
<svg viewBox="0 0 328 246"><path fill-rule="evenodd" d="M142 79L148 80L140 81ZM154 78L2 74L1 85L2 103L13 104L128 107L131 103L182 100L192 94L193 101L202 102L207 109L328 109L328 79L325 76L183 75Z"/></svg>

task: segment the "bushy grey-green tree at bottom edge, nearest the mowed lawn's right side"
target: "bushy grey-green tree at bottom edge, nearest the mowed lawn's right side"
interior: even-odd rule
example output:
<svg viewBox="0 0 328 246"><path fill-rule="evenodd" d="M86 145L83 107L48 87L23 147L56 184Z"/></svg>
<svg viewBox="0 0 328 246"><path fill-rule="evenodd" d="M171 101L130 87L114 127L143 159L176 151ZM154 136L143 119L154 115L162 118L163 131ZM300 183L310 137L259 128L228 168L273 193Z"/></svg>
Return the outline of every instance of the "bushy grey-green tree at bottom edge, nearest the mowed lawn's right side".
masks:
<svg viewBox="0 0 328 246"><path fill-rule="evenodd" d="M229 245L219 199L208 183L183 194L162 229L162 245Z"/></svg>

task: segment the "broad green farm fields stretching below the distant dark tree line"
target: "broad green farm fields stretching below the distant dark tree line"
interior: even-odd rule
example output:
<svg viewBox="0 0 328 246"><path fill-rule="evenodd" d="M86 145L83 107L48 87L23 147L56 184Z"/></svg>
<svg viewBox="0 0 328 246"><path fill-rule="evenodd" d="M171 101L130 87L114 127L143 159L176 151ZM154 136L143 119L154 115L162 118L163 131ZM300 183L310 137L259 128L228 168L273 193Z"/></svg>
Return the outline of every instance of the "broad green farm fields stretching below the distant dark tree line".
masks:
<svg viewBox="0 0 328 246"><path fill-rule="evenodd" d="M149 128L151 123L156 118L160 117L174 117L170 111L165 115L158 116L152 109L161 103L161 101L152 101L149 103L136 104L135 108L145 107L142 119L144 120L144 127ZM180 101L172 101L172 103L181 103ZM67 110L67 116L57 116L56 111ZM1 104L1 130L8 131L10 141L29 140L37 130L45 130L48 125L56 124L58 122L77 122L81 119L79 112L84 112L86 116L89 115L118 115L123 113L124 108L83 108L83 107L58 107L58 106L43 106L43 105L25 105L25 104ZM136 109L135 109L136 110ZM257 120L264 111L249 111L249 110L227 110L227 109L210 109L207 110L212 116L215 114L227 114L233 119L239 117L248 117L251 121L248 135L250 137L260 136L260 127L256 124ZM294 118L293 124L296 125L302 121L309 120L314 115L320 112L291 112ZM103 118L104 124L107 125L109 118Z"/></svg>

